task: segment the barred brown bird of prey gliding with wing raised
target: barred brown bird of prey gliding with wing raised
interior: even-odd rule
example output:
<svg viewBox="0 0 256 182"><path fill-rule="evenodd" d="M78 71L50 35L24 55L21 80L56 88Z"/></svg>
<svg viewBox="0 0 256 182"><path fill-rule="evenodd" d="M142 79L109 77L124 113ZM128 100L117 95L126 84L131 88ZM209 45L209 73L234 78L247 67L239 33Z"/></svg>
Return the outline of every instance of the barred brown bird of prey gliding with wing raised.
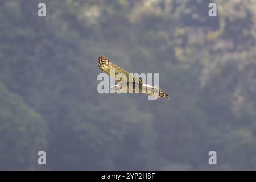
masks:
<svg viewBox="0 0 256 182"><path fill-rule="evenodd" d="M98 67L108 73L110 76L113 76L115 80L119 81L117 85L110 87L114 89L117 93L145 93L149 96L154 96L156 98L169 98L168 94L157 88L157 86L151 86L144 84L142 79L135 76L132 73L125 71L125 69L119 67L118 65L112 63L109 59L104 56L98 57ZM113 75L114 71L114 75ZM120 74L123 76L119 76Z"/></svg>

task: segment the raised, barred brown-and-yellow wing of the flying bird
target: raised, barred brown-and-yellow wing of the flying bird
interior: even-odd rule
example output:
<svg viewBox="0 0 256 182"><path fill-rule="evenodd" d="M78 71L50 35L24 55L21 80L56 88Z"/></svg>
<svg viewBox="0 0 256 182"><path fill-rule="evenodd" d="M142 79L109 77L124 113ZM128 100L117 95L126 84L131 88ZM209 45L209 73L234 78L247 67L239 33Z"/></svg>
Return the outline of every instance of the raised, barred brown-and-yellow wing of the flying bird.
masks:
<svg viewBox="0 0 256 182"><path fill-rule="evenodd" d="M127 83L129 82L135 82L138 84L142 84L142 79L133 75L132 73L130 73L130 77L129 77L129 72L125 71L125 69L119 67L118 65L112 63L112 61L108 60L106 57L104 56L99 56L98 57L98 67L108 73L109 75L111 75L111 69L114 69L115 71L115 80L119 81L121 77L118 76L118 73L123 73L126 75L126 79L122 80L122 81L126 81Z"/></svg>

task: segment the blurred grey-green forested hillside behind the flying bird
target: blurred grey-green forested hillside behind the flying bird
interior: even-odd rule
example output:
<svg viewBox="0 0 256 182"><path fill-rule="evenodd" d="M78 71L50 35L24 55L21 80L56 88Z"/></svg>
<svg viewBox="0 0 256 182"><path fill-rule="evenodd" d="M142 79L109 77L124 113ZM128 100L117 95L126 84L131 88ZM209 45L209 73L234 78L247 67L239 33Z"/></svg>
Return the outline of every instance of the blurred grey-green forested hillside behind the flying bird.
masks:
<svg viewBox="0 0 256 182"><path fill-rule="evenodd" d="M0 169L256 170L255 1L2 0L0 22ZM99 94L99 55L171 99Z"/></svg>

